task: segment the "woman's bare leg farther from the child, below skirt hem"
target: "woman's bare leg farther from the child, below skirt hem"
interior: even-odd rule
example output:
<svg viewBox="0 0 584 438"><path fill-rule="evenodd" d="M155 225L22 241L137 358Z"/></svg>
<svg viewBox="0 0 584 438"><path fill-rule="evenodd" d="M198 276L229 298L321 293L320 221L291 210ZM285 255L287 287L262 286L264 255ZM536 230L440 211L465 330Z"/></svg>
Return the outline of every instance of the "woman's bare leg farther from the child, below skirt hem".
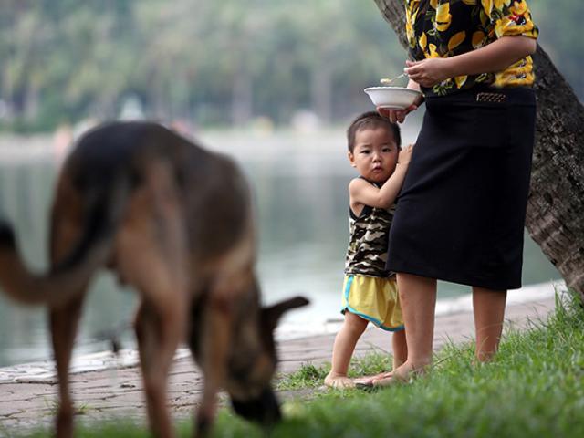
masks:
<svg viewBox="0 0 584 438"><path fill-rule="evenodd" d="M507 291L473 287L476 360L493 359L503 331Z"/></svg>

